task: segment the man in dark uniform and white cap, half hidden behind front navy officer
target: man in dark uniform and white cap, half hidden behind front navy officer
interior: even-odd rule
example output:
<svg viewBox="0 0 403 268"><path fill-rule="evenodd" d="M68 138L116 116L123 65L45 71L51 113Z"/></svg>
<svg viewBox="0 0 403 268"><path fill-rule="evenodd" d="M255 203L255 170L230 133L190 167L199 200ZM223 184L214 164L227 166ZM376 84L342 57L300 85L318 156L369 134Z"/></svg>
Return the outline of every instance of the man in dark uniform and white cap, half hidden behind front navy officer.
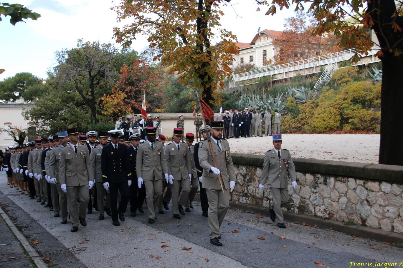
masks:
<svg viewBox="0 0 403 268"><path fill-rule="evenodd" d="M131 174L132 176L136 176L136 163L137 163L137 147L140 144L140 133L134 133L130 136L131 145L127 149L127 154L129 158ZM144 213L143 211L143 203L145 198L145 187L139 188L137 183L132 183L129 187L129 201L130 201L130 212L131 217L136 217L136 211L138 210L140 213Z"/></svg>

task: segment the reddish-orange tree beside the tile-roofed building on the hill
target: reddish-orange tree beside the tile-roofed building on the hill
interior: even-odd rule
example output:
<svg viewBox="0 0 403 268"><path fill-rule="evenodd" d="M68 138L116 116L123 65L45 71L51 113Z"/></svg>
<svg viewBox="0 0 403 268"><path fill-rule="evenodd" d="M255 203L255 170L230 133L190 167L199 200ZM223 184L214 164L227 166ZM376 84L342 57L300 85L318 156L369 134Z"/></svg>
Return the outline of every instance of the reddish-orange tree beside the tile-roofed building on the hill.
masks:
<svg viewBox="0 0 403 268"><path fill-rule="evenodd" d="M276 64L299 61L341 50L340 47L335 46L337 39L312 36L315 22L312 14L302 10L296 11L295 16L285 19L283 32L273 40Z"/></svg>

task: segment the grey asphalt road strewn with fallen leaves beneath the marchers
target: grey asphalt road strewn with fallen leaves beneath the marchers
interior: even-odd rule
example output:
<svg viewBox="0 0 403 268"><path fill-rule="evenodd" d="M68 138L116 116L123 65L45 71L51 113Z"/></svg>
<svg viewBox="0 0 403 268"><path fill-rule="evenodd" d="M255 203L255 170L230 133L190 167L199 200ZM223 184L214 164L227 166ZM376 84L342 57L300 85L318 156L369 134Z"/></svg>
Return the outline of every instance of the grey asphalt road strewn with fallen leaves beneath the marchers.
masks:
<svg viewBox="0 0 403 268"><path fill-rule="evenodd" d="M54 218L36 200L15 195L6 186L4 172L0 190L2 200L21 207L66 248L85 248L75 256L87 267L321 267L315 264L321 262L323 267L345 268L350 262L403 262L403 249L385 243L291 222L280 229L270 218L231 209L221 229L224 245L217 247L208 239L208 219L196 202L182 219L173 219L170 208L157 214L152 225L147 223L147 210L137 217L126 213L118 227L108 216L99 221L94 212L87 215L87 227L80 225L71 233L70 221L61 225L60 217Z"/></svg>

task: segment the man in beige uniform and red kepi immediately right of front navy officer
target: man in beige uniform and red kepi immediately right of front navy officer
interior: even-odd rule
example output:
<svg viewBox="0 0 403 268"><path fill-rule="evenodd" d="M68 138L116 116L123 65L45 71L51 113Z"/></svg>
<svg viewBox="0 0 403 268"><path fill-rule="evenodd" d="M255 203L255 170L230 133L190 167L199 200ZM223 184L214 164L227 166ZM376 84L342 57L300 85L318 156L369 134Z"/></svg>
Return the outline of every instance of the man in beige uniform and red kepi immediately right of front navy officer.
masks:
<svg viewBox="0 0 403 268"><path fill-rule="evenodd" d="M155 127L147 127L147 141L140 143L137 150L137 184L139 188L144 183L145 198L147 200L148 223L154 223L157 218L155 208L161 202L162 197L162 172L166 182L172 184L168 179L168 168L164 155L162 143L155 142Z"/></svg>

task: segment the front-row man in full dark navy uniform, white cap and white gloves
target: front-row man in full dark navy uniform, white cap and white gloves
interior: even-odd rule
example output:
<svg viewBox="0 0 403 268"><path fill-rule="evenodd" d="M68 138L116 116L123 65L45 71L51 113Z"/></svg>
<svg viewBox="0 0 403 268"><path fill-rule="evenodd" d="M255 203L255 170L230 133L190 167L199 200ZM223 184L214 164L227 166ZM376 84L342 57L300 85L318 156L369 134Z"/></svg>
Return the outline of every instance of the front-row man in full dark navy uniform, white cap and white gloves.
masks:
<svg viewBox="0 0 403 268"><path fill-rule="evenodd" d="M114 129L108 131L112 143L102 148L101 170L105 190L110 193L110 208L112 210L112 224L119 226L119 220L125 221L127 202L129 201L129 187L131 185L131 169L127 157L127 147L119 143L120 131ZM120 203L118 209L118 190Z"/></svg>

